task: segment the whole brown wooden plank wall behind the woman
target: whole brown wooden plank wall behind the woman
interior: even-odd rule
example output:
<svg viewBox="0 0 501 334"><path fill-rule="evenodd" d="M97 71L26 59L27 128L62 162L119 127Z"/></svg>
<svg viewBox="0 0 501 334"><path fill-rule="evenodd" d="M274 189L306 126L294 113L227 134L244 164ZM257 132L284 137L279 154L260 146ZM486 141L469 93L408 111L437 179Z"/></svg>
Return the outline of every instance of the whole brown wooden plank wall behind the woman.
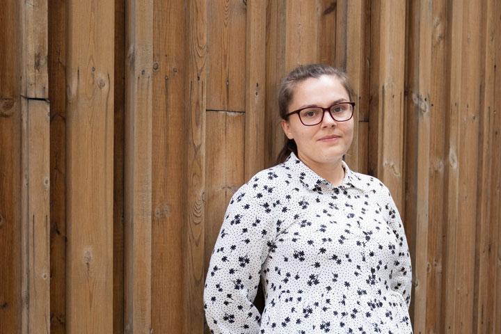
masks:
<svg viewBox="0 0 501 334"><path fill-rule="evenodd" d="M404 217L415 333L501 333L500 1L3 3L0 333L203 333L225 207L310 62L358 92L347 161Z"/></svg>

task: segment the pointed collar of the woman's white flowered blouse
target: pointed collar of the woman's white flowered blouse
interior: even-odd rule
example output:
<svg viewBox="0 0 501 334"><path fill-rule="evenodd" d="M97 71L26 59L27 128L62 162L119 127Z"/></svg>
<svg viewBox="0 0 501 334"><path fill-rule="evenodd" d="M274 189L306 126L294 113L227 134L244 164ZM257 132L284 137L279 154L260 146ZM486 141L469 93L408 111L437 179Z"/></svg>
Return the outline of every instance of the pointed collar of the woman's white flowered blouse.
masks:
<svg viewBox="0 0 501 334"><path fill-rule="evenodd" d="M322 189L347 189L353 186L356 189L365 191L365 183L363 180L356 175L348 166L345 161L342 161L342 167L344 168L344 179L340 186L334 186L324 177L319 176L310 167L306 166L303 161L301 161L294 152L291 152L289 157L285 160L284 165L287 169L291 170L292 175L299 178L306 188L312 191L321 192Z"/></svg>

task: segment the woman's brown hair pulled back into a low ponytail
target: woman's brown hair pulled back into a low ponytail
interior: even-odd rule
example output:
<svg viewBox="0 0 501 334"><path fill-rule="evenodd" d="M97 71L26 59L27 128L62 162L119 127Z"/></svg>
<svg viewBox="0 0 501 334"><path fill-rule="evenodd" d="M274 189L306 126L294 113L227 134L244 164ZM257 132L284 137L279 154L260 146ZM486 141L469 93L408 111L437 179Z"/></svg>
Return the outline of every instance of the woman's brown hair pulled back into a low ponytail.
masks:
<svg viewBox="0 0 501 334"><path fill-rule="evenodd" d="M289 105L292 102L292 98L294 97L294 88L301 81L310 78L319 78L322 75L332 75L339 79L341 85L347 90L350 101L353 101L353 97L355 97L355 93L351 85L349 84L347 75L338 70L336 67L332 67L331 65L326 64L307 64L307 65L299 65L294 68L287 77L282 81L280 85L280 90L278 93L278 111L280 112L280 117L283 120L286 120L287 113L289 112ZM285 136L285 135L284 135ZM285 136L285 145L278 154L277 164L282 163L287 159L290 152L294 152L297 156L297 145L294 139L289 139Z"/></svg>

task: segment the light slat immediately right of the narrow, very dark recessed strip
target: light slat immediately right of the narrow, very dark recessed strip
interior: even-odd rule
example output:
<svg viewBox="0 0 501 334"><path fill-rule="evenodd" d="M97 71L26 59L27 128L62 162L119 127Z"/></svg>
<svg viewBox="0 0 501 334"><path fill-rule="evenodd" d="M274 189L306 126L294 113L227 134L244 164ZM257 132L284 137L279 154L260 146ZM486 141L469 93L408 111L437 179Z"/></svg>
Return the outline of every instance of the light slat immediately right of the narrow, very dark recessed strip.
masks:
<svg viewBox="0 0 501 334"><path fill-rule="evenodd" d="M152 0L127 1L125 332L151 330Z"/></svg>

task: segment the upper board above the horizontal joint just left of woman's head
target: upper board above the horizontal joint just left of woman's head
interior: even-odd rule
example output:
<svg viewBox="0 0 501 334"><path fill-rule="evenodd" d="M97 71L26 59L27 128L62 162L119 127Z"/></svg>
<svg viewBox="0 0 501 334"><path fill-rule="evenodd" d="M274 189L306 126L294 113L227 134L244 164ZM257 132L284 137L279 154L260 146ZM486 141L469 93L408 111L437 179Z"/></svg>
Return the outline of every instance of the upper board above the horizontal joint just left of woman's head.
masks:
<svg viewBox="0 0 501 334"><path fill-rule="evenodd" d="M248 1L247 6L252 7ZM244 111L246 106L246 3L207 6L207 109ZM261 40L260 42L264 42Z"/></svg>

